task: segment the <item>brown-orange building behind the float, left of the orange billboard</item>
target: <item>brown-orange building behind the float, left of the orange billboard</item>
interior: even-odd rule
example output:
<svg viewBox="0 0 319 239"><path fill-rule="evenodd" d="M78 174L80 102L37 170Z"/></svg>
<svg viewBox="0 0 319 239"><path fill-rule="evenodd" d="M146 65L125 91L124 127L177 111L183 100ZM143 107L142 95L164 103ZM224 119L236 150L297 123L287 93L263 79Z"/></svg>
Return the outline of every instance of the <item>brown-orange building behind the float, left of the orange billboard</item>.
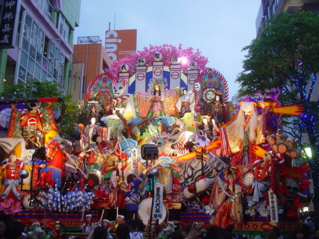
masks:
<svg viewBox="0 0 319 239"><path fill-rule="evenodd" d="M99 36L78 37L78 44L73 47L73 62L83 63L82 99L87 86L98 75L109 68L112 60L107 55Z"/></svg>

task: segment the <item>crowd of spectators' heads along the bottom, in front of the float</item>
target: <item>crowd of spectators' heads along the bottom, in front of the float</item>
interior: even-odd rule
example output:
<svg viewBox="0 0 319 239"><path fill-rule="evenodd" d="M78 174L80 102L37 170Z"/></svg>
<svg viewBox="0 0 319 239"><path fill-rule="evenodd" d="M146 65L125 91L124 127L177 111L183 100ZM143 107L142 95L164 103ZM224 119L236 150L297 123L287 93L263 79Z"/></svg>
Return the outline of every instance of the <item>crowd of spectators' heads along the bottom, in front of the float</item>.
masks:
<svg viewBox="0 0 319 239"><path fill-rule="evenodd" d="M304 219L304 220L303 220ZM293 230L291 236L283 236L279 228L270 227L266 236L258 235L235 235L234 227L227 226L225 229L219 226L211 226L204 229L203 222L189 222L181 227L175 227L175 230L169 234L160 233L157 238L161 239L319 239L319 229L313 227L313 213L309 213L306 218L301 217L301 226ZM80 225L80 231L88 236L87 239L144 239L149 231L148 227L139 219L129 219L125 221L123 215L118 215L116 222L110 225L109 220L103 219L93 222L92 215L87 214L83 224ZM163 230L164 231L164 230ZM0 239L28 239L28 232L25 225L12 220L10 216L0 214ZM76 236L70 239L82 239ZM147 238L151 239L151 237ZM156 238L156 237L153 237Z"/></svg>

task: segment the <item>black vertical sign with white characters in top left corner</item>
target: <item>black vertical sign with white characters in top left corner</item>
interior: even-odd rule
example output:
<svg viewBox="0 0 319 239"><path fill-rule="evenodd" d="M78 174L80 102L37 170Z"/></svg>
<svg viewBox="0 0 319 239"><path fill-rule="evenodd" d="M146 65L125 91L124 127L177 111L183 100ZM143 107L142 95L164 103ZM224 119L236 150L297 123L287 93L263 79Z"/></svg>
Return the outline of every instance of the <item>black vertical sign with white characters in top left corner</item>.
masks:
<svg viewBox="0 0 319 239"><path fill-rule="evenodd" d="M0 21L0 48L14 48L19 21L18 0L3 0Z"/></svg>

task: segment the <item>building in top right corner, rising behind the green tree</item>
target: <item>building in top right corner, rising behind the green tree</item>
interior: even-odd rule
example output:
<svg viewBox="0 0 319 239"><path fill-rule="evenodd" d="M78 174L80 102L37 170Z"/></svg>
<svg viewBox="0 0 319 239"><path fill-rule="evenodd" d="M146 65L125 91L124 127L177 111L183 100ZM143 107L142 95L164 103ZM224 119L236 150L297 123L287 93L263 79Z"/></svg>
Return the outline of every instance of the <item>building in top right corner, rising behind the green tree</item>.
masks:
<svg viewBox="0 0 319 239"><path fill-rule="evenodd" d="M257 37L267 19L281 13L297 13L301 10L319 12L319 0L262 0L256 19Z"/></svg>

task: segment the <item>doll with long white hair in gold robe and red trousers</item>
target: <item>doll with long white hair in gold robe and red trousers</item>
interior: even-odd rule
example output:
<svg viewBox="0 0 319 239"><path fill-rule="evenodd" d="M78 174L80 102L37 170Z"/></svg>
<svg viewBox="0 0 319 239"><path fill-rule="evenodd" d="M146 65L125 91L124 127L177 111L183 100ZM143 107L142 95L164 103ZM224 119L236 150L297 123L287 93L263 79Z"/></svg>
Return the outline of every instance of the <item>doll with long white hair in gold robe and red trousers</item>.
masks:
<svg viewBox="0 0 319 239"><path fill-rule="evenodd" d="M253 102L243 103L237 119L231 125L220 129L223 156L232 157L231 166L246 165L257 160L253 145L266 140L266 108L264 104L262 107L262 114L258 115Z"/></svg>

